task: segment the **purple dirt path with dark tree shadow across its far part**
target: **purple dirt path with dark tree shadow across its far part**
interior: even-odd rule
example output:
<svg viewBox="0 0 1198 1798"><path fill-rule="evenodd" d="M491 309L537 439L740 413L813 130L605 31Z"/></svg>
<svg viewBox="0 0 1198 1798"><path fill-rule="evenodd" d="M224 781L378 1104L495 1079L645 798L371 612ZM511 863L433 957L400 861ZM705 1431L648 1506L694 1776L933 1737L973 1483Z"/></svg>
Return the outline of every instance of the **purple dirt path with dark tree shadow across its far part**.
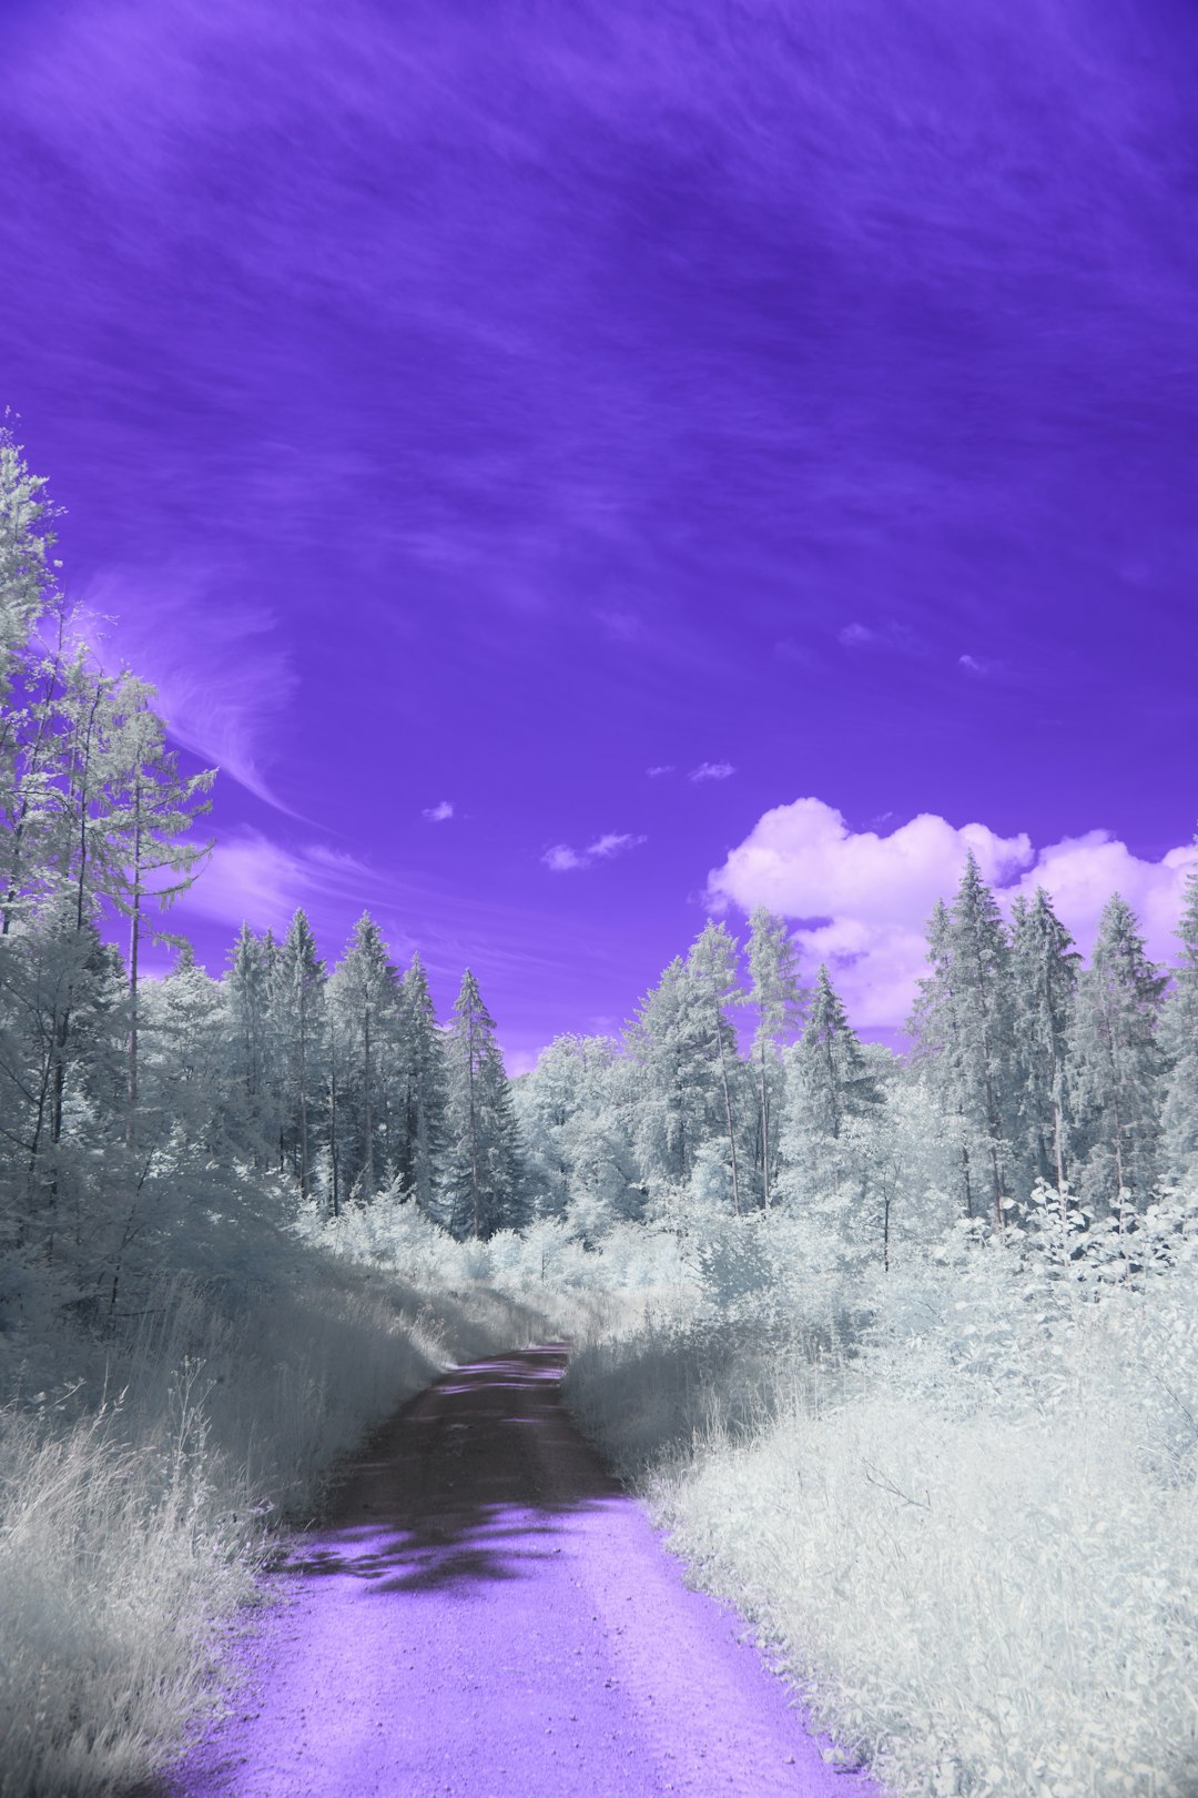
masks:
<svg viewBox="0 0 1198 1798"><path fill-rule="evenodd" d="M172 1798L880 1798L686 1589L564 1361L454 1368L366 1444Z"/></svg>

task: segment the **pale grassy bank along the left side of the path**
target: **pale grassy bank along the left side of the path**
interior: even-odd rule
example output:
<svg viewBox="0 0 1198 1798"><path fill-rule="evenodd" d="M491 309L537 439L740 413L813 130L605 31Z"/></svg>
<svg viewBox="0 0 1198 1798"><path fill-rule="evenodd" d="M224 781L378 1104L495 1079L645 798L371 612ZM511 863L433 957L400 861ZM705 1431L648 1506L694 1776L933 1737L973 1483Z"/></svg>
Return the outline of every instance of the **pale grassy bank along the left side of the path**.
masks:
<svg viewBox="0 0 1198 1798"><path fill-rule="evenodd" d="M124 1336L56 1345L0 1410L0 1794L101 1794L219 1706L228 1622L280 1528L454 1361L546 1329L510 1293L296 1248L257 1295L176 1280ZM41 1372L45 1372L45 1357Z"/></svg>

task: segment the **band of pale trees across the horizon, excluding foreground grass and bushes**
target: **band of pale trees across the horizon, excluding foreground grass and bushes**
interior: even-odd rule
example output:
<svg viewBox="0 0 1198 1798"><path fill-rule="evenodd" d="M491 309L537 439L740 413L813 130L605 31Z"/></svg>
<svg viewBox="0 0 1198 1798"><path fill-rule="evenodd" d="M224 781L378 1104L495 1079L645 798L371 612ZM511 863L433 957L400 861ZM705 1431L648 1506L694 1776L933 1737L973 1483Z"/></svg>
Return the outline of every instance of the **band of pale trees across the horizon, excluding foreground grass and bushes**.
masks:
<svg viewBox="0 0 1198 1798"><path fill-rule="evenodd" d="M1047 892L1008 922L970 856L905 1057L859 1039L830 967L803 984L763 908L744 944L709 919L620 1037L559 1037L517 1081L474 975L440 1025L368 915L332 969L304 912L244 924L212 978L165 917L212 771L180 773L153 689L74 629L43 485L0 432L0 1329L34 1289L115 1313L180 1244L219 1278L282 1190L480 1239L781 1208L889 1266L957 1217L1002 1235L1038 1188L1133 1230L1198 1172L1198 872L1166 973L1123 897L1081 966ZM163 980L147 942L176 949Z"/></svg>

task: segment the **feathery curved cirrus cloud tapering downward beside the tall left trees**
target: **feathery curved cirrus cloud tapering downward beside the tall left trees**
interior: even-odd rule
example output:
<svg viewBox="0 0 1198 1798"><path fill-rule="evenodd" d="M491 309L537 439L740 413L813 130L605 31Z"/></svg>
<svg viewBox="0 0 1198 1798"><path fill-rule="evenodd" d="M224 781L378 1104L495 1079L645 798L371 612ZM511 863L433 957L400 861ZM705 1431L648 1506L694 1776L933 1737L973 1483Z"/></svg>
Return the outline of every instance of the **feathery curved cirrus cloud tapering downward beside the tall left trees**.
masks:
<svg viewBox="0 0 1198 1798"><path fill-rule="evenodd" d="M291 813L266 770L296 674L273 613L233 588L216 563L106 568L83 590L77 622L104 669L131 667L154 685L176 743Z"/></svg>

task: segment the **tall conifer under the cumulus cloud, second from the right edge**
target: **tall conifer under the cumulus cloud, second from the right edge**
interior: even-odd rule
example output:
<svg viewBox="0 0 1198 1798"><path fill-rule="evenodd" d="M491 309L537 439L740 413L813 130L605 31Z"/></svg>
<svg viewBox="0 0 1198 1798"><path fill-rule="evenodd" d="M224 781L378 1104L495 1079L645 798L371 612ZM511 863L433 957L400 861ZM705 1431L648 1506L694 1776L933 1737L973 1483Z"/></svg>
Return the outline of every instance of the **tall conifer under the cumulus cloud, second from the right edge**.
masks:
<svg viewBox="0 0 1198 1798"><path fill-rule="evenodd" d="M1117 1210L1121 1221L1128 1201L1144 1201L1157 1178L1166 984L1144 953L1135 912L1112 894L1090 966L1078 980L1069 1050L1085 1192Z"/></svg>

